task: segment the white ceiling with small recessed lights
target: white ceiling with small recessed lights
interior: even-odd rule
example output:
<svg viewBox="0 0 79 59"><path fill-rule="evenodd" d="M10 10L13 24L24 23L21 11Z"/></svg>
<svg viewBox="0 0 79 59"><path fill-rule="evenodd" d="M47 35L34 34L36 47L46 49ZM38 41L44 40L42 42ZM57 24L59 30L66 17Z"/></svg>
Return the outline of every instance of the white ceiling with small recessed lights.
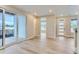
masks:
<svg viewBox="0 0 79 59"><path fill-rule="evenodd" d="M25 12L35 14L37 16L45 15L76 15L79 13L78 5L14 5L13 7L21 9ZM49 10L52 10L52 13L49 13Z"/></svg>

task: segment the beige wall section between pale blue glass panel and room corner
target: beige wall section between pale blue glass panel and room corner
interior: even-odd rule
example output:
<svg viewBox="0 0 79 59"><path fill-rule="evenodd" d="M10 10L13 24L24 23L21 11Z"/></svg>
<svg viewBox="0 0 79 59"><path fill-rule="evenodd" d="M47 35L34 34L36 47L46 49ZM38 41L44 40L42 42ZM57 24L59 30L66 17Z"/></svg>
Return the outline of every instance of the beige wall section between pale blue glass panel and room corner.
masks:
<svg viewBox="0 0 79 59"><path fill-rule="evenodd" d="M35 24L36 19L35 16L28 14L27 15L27 37L34 37L35 36Z"/></svg>

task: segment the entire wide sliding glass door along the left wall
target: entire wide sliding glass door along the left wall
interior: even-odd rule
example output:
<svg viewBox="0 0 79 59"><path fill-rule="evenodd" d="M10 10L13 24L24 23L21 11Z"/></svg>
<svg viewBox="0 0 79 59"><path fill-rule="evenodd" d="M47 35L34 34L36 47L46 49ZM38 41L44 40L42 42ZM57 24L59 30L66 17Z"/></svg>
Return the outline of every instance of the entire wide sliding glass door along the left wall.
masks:
<svg viewBox="0 0 79 59"><path fill-rule="evenodd" d="M26 16L0 9L0 48L26 39Z"/></svg>

